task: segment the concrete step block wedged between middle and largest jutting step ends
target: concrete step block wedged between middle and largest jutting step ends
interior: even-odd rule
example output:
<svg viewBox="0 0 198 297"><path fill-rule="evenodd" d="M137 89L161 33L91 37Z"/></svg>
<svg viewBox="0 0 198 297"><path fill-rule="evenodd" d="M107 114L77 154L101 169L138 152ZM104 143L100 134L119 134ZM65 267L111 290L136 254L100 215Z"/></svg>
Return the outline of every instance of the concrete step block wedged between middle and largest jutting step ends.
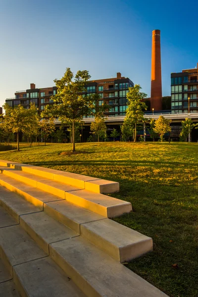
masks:
<svg viewBox="0 0 198 297"><path fill-rule="evenodd" d="M45 203L44 212L78 234L80 234L81 224L105 218L66 200Z"/></svg>

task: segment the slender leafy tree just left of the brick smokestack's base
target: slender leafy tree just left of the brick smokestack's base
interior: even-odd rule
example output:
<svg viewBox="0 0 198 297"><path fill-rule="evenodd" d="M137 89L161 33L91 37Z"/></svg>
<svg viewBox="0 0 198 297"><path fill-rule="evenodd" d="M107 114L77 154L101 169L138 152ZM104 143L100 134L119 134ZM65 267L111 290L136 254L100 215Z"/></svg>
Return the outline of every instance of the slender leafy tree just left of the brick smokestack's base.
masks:
<svg viewBox="0 0 198 297"><path fill-rule="evenodd" d="M135 87L129 88L127 93L128 108L124 122L135 126L134 142L136 142L137 123L145 120L143 109L147 110L146 103L142 101L147 97L147 94L140 92L141 89L140 85L135 85Z"/></svg>

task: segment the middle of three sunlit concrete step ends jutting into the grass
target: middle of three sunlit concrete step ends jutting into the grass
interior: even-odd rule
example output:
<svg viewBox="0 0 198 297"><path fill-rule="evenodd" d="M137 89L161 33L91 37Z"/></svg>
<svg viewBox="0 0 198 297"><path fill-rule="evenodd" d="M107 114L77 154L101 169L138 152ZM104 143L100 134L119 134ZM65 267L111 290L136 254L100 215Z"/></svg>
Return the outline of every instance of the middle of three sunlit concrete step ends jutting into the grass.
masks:
<svg viewBox="0 0 198 297"><path fill-rule="evenodd" d="M130 202L87 190L65 192L65 199L108 218L132 211Z"/></svg>

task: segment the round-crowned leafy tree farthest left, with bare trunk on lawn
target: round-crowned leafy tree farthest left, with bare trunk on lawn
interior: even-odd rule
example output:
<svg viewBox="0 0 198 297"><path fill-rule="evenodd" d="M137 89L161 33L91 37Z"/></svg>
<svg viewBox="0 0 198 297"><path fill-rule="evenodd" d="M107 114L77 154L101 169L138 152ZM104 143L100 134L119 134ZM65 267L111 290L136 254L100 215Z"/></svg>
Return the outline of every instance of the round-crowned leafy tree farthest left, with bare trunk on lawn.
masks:
<svg viewBox="0 0 198 297"><path fill-rule="evenodd" d="M10 129L17 134L17 150L19 151L19 132L25 133L26 129L34 124L37 109L34 104L30 104L29 109L25 109L22 105L14 107L4 104L5 115L3 122L6 129Z"/></svg>

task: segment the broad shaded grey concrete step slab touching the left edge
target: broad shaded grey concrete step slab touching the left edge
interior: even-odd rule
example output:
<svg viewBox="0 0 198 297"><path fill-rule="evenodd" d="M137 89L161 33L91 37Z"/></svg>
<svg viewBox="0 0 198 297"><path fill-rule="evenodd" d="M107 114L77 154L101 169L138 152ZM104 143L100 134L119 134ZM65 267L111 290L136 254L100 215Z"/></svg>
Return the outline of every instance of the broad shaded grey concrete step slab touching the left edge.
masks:
<svg viewBox="0 0 198 297"><path fill-rule="evenodd" d="M19 226L0 228L0 258L12 275L12 267L47 254Z"/></svg>

